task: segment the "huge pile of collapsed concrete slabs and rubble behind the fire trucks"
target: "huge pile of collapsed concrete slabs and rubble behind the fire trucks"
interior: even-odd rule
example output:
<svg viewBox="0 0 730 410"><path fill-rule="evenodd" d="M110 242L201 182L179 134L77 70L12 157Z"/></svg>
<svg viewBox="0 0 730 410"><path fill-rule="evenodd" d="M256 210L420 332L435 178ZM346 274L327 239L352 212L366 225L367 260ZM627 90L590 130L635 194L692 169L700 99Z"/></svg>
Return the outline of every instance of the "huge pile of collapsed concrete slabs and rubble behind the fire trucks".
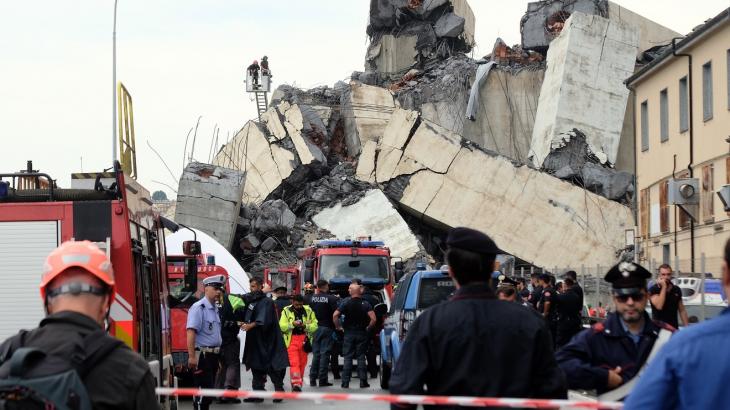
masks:
<svg viewBox="0 0 730 410"><path fill-rule="evenodd" d="M348 236L438 266L454 226L538 267L613 263L635 225L623 80L671 30L604 0L530 3L521 26L474 60L466 0L371 0L366 71L280 86L215 156L243 175L225 217L244 268Z"/></svg>

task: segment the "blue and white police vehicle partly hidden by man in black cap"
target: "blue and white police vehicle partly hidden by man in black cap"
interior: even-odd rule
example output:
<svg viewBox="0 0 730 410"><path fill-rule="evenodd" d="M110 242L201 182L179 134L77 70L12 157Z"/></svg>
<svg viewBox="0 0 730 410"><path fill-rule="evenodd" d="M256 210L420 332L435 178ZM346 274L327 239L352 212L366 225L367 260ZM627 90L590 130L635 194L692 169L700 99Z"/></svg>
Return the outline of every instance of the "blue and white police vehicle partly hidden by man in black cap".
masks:
<svg viewBox="0 0 730 410"><path fill-rule="evenodd" d="M398 282L394 301L380 332L381 388L388 388L390 373L413 321L425 309L447 300L454 290L454 282L446 270L417 270Z"/></svg>

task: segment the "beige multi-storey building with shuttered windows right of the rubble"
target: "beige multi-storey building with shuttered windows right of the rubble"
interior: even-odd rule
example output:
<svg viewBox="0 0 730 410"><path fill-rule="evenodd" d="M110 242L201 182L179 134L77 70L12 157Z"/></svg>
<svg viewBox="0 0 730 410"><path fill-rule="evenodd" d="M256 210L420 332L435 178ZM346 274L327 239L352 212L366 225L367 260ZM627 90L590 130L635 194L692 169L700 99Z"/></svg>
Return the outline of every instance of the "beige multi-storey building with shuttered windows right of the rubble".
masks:
<svg viewBox="0 0 730 410"><path fill-rule="evenodd" d="M681 54L691 56L691 76L690 58ZM730 8L626 83L634 95L639 260L654 267L678 260L689 272L694 242L694 271L705 254L705 271L719 277L730 238L730 214L716 194L730 184ZM668 203L669 180L689 177L690 169L700 191L694 224Z"/></svg>

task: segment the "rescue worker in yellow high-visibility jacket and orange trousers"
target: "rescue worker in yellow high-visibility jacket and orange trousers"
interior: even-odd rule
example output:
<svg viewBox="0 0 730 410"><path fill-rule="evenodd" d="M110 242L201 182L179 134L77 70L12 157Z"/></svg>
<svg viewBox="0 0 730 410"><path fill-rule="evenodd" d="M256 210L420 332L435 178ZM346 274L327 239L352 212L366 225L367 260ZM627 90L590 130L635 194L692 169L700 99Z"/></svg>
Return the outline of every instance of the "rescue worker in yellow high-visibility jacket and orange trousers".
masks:
<svg viewBox="0 0 730 410"><path fill-rule="evenodd" d="M312 351L312 337L317 331L317 318L312 308L304 304L302 295L294 295L292 304L281 311L279 327L289 353L289 377L292 391L302 391L307 354ZM309 348L305 349L305 345Z"/></svg>

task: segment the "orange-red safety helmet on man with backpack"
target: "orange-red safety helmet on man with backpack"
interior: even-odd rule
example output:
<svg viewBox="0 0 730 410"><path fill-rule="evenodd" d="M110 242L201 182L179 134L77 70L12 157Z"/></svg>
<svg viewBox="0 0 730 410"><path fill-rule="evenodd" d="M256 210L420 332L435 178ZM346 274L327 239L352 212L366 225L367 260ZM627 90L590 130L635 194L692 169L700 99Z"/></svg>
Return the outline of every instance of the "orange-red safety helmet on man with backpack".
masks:
<svg viewBox="0 0 730 410"><path fill-rule="evenodd" d="M109 300L114 300L114 270L111 261L98 246L89 241L68 241L54 249L46 258L41 279L41 298L46 299L47 287L54 279L72 267L79 267L109 287Z"/></svg>

